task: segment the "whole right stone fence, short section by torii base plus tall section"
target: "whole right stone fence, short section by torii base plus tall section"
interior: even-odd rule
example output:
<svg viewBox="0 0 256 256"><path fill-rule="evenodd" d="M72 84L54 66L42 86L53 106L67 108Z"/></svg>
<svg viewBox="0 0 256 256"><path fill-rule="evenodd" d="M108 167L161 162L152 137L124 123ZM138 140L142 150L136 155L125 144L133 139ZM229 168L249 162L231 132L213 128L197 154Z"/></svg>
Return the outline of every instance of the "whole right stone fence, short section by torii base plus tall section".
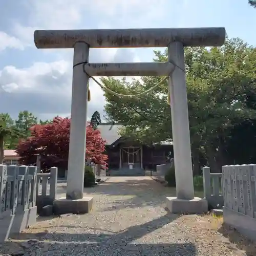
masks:
<svg viewBox="0 0 256 256"><path fill-rule="evenodd" d="M223 209L225 224L256 240L256 165L225 165L219 174L204 167L203 178L210 208Z"/></svg>

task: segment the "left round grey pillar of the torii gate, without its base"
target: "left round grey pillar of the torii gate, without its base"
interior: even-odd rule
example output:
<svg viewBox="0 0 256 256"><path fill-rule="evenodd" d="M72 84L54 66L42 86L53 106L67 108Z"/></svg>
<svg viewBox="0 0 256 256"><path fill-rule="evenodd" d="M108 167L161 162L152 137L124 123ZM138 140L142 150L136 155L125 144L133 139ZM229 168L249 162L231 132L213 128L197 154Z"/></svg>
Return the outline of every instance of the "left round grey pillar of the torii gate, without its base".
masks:
<svg viewBox="0 0 256 256"><path fill-rule="evenodd" d="M89 46L76 42L74 46L71 127L67 177L67 199L83 198L84 161L86 155L86 124L89 77L83 62L89 60Z"/></svg>

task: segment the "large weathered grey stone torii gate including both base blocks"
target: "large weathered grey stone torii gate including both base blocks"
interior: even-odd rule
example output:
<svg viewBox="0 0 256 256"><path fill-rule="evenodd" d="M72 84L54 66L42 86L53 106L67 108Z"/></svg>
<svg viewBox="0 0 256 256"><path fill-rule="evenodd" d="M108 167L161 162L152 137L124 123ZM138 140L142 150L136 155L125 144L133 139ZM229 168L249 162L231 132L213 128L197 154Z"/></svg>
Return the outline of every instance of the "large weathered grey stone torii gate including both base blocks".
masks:
<svg viewBox="0 0 256 256"><path fill-rule="evenodd" d="M167 198L171 212L207 211L194 197L184 47L222 46L225 28L37 30L39 49L74 48L67 197L54 202L60 214L86 213L93 198L83 197L89 76L169 76L177 198ZM89 63L90 48L167 47L168 62ZM173 71L173 72L172 72Z"/></svg>

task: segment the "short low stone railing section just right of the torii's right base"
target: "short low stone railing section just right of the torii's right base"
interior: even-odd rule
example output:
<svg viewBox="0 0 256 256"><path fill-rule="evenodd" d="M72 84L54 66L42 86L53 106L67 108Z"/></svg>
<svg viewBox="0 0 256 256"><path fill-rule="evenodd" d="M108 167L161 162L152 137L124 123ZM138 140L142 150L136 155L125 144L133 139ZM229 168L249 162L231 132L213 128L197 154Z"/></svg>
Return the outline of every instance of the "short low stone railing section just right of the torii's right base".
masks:
<svg viewBox="0 0 256 256"><path fill-rule="evenodd" d="M222 174L211 174L209 167L203 167L204 198L210 208L222 208Z"/></svg>

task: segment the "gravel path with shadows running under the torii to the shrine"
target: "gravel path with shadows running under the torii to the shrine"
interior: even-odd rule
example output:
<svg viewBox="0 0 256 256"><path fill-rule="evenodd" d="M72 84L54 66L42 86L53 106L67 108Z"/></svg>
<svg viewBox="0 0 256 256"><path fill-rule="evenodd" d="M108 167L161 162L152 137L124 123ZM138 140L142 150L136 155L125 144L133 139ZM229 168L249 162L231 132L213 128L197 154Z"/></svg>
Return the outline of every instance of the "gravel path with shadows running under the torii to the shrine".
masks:
<svg viewBox="0 0 256 256"><path fill-rule="evenodd" d="M0 255L256 255L225 238L210 216L169 214L165 198L173 189L150 177L111 177L84 192L94 196L90 214L38 218L0 246Z"/></svg>

